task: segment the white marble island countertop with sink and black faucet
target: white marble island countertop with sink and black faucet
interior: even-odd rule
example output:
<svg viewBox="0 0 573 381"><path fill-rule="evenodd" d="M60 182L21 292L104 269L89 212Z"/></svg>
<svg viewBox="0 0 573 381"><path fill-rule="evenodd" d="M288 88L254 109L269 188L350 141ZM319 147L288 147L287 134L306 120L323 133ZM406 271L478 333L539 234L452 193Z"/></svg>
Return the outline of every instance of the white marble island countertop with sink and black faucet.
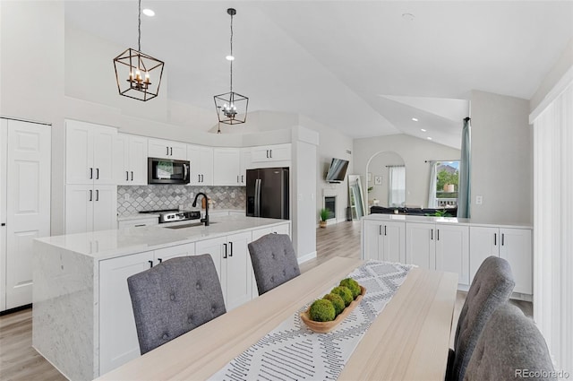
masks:
<svg viewBox="0 0 573 381"><path fill-rule="evenodd" d="M181 221L183 223L193 221ZM210 226L194 226L184 229L168 229L162 224L138 228L100 230L89 233L69 234L37 238L56 247L62 247L96 260L115 256L141 253L163 247L192 243L202 239L218 238L227 234L270 227L286 220L245 217L243 215L221 215L210 218ZM171 224L173 226L173 224Z"/></svg>

